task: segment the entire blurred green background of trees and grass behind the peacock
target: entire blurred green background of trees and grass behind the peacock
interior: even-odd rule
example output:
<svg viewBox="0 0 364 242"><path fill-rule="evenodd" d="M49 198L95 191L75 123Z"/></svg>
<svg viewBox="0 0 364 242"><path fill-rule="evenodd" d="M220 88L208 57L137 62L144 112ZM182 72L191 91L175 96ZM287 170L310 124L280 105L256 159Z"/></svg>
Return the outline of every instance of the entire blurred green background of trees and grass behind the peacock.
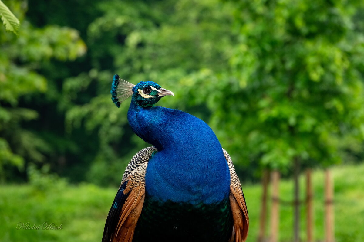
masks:
<svg viewBox="0 0 364 242"><path fill-rule="evenodd" d="M294 164L314 170L315 241L328 168L336 241L364 241L363 1L3 2L21 26L0 24L0 241L100 241L128 161L149 145L128 126L130 100L111 101L114 74L157 82L175 94L160 106L210 125L242 182L248 241L263 171L280 171L290 200ZM292 228L281 206L279 241Z"/></svg>

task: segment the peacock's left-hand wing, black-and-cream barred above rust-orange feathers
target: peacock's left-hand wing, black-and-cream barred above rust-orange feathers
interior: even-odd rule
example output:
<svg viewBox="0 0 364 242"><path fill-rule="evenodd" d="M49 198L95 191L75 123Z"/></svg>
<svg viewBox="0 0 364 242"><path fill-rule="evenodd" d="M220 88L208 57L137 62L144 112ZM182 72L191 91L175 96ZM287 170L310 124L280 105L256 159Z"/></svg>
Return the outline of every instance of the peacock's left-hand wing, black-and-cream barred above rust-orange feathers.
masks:
<svg viewBox="0 0 364 242"><path fill-rule="evenodd" d="M145 198L145 173L155 147L139 151L128 164L108 213L102 242L131 242Z"/></svg>

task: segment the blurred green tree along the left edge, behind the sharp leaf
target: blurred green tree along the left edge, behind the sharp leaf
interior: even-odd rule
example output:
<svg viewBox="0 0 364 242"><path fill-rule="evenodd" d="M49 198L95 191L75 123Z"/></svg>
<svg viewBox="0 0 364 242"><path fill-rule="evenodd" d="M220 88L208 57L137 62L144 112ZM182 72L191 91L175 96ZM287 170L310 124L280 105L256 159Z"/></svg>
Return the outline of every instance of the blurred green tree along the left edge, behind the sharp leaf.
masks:
<svg viewBox="0 0 364 242"><path fill-rule="evenodd" d="M22 21L19 38L6 33L0 26L0 177L12 175L5 168L24 162L44 161L50 152L38 134L24 128L24 122L36 120L39 114L27 106L34 93L47 93L47 79L39 74L43 65L55 58L74 60L86 51L84 42L76 30L67 27L46 26L34 28L24 19L25 1L5 1Z"/></svg>

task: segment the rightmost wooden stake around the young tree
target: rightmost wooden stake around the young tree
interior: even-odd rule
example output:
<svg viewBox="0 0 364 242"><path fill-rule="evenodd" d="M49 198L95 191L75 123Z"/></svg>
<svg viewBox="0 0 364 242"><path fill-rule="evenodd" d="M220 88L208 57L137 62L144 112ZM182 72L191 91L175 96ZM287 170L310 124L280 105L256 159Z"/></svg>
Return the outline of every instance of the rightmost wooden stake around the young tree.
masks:
<svg viewBox="0 0 364 242"><path fill-rule="evenodd" d="M325 241L334 242L333 182L330 171L325 171Z"/></svg>

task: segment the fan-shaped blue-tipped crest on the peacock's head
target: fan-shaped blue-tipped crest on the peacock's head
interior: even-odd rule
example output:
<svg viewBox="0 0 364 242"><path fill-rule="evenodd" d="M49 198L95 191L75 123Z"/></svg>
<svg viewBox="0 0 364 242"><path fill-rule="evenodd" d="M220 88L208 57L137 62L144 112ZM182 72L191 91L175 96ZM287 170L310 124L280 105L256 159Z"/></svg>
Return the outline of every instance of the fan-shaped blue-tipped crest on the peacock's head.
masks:
<svg viewBox="0 0 364 242"><path fill-rule="evenodd" d="M120 107L120 103L133 94L132 88L134 86L134 84L121 79L119 75L114 75L110 93L111 100L115 103L116 107Z"/></svg>

